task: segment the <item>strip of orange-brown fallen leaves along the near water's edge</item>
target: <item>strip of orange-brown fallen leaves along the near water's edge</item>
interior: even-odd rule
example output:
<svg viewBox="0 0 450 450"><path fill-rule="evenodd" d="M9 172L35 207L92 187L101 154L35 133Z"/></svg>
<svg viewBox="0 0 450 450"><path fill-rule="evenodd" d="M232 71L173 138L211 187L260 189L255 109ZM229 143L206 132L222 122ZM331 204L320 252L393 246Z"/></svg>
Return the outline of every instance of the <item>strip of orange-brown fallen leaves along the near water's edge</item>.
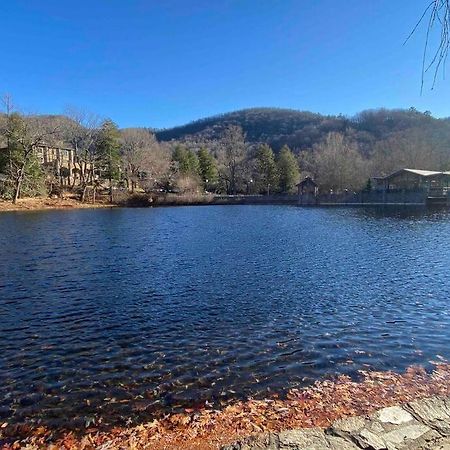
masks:
<svg viewBox="0 0 450 450"><path fill-rule="evenodd" d="M286 398L240 401L222 410L186 409L135 426L103 430L54 430L45 426L0 424L0 446L19 448L151 448L152 450L218 450L233 442L258 442L247 436L295 429L326 429L339 419L368 416L395 405L450 396L450 364L435 363L429 373L410 367L404 373L361 372L360 380L341 376L293 389ZM301 432L303 433L303 432ZM321 430L317 433L323 435ZM235 444L229 449L252 448ZM51 447L54 445L54 447ZM256 447L264 448L264 447ZM272 448L272 447L270 447ZM328 447L327 447L328 448ZM355 447L356 448L356 447Z"/></svg>

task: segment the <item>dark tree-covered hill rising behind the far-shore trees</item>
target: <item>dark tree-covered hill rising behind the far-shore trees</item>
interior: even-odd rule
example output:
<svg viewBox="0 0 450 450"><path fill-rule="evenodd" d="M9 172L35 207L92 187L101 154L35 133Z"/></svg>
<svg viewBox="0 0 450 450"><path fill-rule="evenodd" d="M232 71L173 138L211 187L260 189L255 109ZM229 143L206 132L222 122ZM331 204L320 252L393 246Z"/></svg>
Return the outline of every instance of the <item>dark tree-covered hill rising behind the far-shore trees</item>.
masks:
<svg viewBox="0 0 450 450"><path fill-rule="evenodd" d="M429 112L411 109L376 109L363 111L354 117L325 116L308 111L279 108L253 108L208 117L187 125L159 130L161 141L213 140L220 138L229 125L242 127L250 143L265 142L278 150L284 144L304 150L321 141L329 132L340 132L356 141L360 149L393 134L408 130L423 130L450 141L450 120L436 119Z"/></svg>

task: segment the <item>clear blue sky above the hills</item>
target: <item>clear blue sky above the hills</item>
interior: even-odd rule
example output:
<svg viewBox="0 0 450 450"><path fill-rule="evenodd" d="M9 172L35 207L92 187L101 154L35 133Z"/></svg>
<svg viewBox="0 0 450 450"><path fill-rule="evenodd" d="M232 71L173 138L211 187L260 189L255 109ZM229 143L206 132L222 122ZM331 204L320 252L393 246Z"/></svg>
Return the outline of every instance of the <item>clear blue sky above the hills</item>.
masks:
<svg viewBox="0 0 450 450"><path fill-rule="evenodd" d="M450 116L449 79L420 95L424 27L403 45L428 2L3 0L0 93L122 127L254 106Z"/></svg>

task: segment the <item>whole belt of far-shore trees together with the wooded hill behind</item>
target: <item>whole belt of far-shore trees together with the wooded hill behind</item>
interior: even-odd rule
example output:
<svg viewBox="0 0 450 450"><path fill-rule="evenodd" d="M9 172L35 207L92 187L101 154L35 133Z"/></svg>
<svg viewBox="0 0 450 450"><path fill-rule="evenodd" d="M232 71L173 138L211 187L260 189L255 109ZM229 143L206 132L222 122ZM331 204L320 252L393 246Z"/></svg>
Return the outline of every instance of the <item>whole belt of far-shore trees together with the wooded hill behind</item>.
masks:
<svg viewBox="0 0 450 450"><path fill-rule="evenodd" d="M191 194L286 194L312 176L322 192L370 188L408 167L450 169L450 120L377 109L353 117L276 108L236 111L165 130L124 128L78 110L0 116L4 198L71 189ZM39 146L73 150L73 174L42 165Z"/></svg>

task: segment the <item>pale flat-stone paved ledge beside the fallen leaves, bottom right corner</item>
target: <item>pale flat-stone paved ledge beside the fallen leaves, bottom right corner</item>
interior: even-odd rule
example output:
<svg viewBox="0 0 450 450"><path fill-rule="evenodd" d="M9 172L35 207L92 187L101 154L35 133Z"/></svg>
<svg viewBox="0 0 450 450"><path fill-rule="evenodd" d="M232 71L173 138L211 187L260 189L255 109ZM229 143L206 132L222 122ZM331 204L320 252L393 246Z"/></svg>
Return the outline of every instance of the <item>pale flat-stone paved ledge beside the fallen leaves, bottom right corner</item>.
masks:
<svg viewBox="0 0 450 450"><path fill-rule="evenodd" d="M450 398L432 397L348 417L327 430L256 435L223 450L450 450Z"/></svg>

